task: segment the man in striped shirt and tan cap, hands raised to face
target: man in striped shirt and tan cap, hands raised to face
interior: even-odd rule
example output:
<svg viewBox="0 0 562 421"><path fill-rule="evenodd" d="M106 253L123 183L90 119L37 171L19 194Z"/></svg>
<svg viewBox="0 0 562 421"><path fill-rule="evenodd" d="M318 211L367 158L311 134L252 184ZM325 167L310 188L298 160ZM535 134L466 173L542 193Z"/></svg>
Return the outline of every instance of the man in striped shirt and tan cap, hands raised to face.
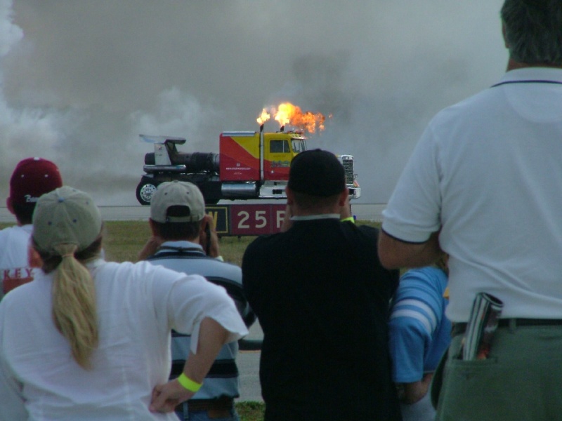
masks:
<svg viewBox="0 0 562 421"><path fill-rule="evenodd" d="M202 275L207 281L223 286L249 327L256 317L242 290L242 270L221 261L212 222L211 216L205 213L203 195L196 185L164 182L150 201L153 236L140 257L177 272ZM171 378L181 373L190 342L190 335L172 332ZM222 347L200 391L176 408L181 420L237 420L234 408L234 399L240 396L237 354L237 342Z"/></svg>

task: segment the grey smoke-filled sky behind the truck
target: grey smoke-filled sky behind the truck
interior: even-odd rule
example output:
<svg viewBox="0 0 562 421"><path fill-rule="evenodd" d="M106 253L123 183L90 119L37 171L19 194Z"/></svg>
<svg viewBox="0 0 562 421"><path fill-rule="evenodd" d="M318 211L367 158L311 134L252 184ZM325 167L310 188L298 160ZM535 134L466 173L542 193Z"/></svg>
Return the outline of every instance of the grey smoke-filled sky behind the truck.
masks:
<svg viewBox="0 0 562 421"><path fill-rule="evenodd" d="M140 133L218 152L282 101L332 115L308 147L353 154L360 201L385 203L431 116L502 76L501 5L0 0L0 203L43 156L98 204L135 204Z"/></svg>

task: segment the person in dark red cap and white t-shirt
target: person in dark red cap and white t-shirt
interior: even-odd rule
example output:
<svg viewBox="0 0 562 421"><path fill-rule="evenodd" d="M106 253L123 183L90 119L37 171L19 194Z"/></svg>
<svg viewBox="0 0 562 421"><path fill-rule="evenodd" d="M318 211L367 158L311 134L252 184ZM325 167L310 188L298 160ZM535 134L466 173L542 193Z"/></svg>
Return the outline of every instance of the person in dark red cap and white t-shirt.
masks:
<svg viewBox="0 0 562 421"><path fill-rule="evenodd" d="M27 158L15 166L6 207L18 225L0 230L0 300L9 290L33 280L28 249L35 203L62 185L60 171L51 161Z"/></svg>

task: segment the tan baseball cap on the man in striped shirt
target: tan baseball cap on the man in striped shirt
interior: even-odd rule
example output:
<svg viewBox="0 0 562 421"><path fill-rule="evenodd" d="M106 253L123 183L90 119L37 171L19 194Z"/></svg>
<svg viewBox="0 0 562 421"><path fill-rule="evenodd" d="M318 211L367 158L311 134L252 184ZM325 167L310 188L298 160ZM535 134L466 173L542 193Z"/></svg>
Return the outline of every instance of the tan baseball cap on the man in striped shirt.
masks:
<svg viewBox="0 0 562 421"><path fill-rule="evenodd" d="M168 215L171 206L185 207L185 216ZM199 222L204 216L203 194L199 187L187 181L163 182L150 199L150 219L155 222Z"/></svg>

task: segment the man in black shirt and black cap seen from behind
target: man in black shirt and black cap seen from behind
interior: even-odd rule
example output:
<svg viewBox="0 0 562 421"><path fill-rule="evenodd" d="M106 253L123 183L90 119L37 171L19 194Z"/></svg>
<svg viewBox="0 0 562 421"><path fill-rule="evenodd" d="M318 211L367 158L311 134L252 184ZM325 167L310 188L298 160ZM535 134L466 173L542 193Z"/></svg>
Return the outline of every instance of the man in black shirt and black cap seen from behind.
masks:
<svg viewBox="0 0 562 421"><path fill-rule="evenodd" d="M377 229L340 222L347 200L336 156L302 152L287 186L292 227L244 253L266 421L400 420L387 328L398 272L379 263Z"/></svg>

